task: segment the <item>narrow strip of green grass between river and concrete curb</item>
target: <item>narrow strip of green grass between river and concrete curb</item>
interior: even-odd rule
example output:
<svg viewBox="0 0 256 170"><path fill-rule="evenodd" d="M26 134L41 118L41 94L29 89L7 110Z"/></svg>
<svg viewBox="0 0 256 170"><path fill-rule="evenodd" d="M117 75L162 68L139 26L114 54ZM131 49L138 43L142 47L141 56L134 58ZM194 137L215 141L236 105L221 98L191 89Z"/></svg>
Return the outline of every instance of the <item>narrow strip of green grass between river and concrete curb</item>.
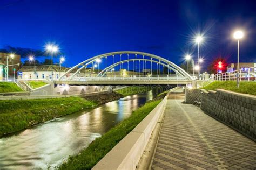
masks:
<svg viewBox="0 0 256 170"><path fill-rule="evenodd" d="M120 122L102 137L82 150L78 155L69 157L66 162L59 165L58 169L91 169L102 159L117 143L131 132L140 121L152 111L161 100L148 102L138 110L132 112L132 116ZM110 162L111 164L111 162Z"/></svg>

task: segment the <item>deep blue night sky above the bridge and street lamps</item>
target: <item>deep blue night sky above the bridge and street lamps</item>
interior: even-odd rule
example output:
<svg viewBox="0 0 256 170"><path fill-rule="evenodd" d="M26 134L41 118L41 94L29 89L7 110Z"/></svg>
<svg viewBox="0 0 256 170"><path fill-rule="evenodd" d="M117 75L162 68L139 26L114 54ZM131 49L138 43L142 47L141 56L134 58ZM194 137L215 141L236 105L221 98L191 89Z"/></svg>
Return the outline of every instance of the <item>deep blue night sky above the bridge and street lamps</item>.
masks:
<svg viewBox="0 0 256 170"><path fill-rule="evenodd" d="M194 35L205 34L205 65L217 56L256 62L255 1L50 1L1 0L0 48L6 45L44 49L56 42L72 66L113 51L143 51L177 64L190 52Z"/></svg>

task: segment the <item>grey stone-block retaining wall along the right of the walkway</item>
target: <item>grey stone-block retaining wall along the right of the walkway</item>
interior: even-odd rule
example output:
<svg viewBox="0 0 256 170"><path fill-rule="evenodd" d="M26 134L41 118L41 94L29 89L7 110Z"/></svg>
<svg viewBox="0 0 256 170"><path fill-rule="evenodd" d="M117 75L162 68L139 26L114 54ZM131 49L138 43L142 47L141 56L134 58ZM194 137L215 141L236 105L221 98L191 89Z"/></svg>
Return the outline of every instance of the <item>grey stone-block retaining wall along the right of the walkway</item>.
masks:
<svg viewBox="0 0 256 170"><path fill-rule="evenodd" d="M196 100L198 96L201 97L203 111L256 141L256 96L223 89L186 91L185 98L188 102Z"/></svg>

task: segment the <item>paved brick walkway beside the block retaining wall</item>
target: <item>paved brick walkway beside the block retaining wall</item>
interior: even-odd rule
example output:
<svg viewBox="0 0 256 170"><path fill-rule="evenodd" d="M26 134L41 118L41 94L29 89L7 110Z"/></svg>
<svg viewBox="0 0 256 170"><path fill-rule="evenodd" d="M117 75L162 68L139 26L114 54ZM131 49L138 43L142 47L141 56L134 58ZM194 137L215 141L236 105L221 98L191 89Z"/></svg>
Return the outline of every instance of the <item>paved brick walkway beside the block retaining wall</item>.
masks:
<svg viewBox="0 0 256 170"><path fill-rule="evenodd" d="M256 144L169 96L152 169L256 169Z"/></svg>

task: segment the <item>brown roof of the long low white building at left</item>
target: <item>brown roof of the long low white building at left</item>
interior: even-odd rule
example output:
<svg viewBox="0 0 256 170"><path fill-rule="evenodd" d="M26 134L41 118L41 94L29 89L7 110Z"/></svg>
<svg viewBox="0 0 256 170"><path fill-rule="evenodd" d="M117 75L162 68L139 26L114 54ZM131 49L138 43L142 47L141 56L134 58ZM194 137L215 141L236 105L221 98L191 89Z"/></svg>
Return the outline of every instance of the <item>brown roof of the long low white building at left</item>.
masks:
<svg viewBox="0 0 256 170"><path fill-rule="evenodd" d="M19 69L19 72L33 72L34 66L22 66L21 69ZM61 72L66 72L70 68L62 67ZM78 70L78 68L75 68L72 70L71 73L75 73ZM51 65L42 65L42 66L36 66L36 71L37 72L51 72ZM54 72L59 72L59 66L53 65L53 71ZM82 69L82 72L84 72L84 69ZM86 72L91 72L90 69L87 69Z"/></svg>

